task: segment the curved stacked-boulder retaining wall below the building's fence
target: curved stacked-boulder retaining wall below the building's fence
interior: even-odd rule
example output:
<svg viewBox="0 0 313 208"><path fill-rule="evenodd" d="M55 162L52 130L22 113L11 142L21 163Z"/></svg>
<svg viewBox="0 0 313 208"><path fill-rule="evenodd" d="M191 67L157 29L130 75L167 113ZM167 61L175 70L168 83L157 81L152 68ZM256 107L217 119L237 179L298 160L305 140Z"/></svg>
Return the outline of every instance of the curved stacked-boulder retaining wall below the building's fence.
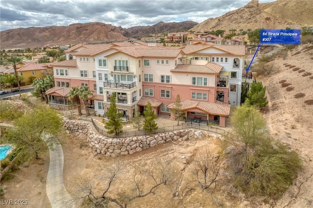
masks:
<svg viewBox="0 0 313 208"><path fill-rule="evenodd" d="M133 154L165 142L176 140L186 141L195 136L200 137L202 134L201 131L195 132L194 129L186 129L159 133L156 135L144 135L129 138L108 138L99 134L94 126L90 125L88 122L65 119L63 127L72 133L85 134L89 146L95 151L94 156L97 154L103 154L104 156L111 157Z"/></svg>

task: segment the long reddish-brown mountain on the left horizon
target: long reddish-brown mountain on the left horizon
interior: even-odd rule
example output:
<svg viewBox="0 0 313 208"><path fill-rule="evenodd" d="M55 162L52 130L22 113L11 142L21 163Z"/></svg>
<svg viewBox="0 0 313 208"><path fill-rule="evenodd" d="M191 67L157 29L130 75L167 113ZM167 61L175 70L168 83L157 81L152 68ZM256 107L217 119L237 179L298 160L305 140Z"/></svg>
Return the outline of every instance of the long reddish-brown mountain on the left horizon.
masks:
<svg viewBox="0 0 313 208"><path fill-rule="evenodd" d="M119 28L101 22L1 31L1 48L26 48L126 39Z"/></svg>

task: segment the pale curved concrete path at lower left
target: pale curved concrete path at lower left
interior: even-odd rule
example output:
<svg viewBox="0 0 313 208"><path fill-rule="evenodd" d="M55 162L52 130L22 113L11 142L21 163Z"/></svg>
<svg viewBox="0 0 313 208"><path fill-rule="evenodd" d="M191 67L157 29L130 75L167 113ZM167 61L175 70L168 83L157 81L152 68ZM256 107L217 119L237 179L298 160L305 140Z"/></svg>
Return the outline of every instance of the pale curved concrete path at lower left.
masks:
<svg viewBox="0 0 313 208"><path fill-rule="evenodd" d="M47 179L45 182L45 188L47 196L50 200L52 208L66 208L72 207L73 204L66 206L64 202L71 202L72 198L67 192L63 184L63 165L64 156L60 143L54 145L53 148L49 148L50 165L48 170Z"/></svg>

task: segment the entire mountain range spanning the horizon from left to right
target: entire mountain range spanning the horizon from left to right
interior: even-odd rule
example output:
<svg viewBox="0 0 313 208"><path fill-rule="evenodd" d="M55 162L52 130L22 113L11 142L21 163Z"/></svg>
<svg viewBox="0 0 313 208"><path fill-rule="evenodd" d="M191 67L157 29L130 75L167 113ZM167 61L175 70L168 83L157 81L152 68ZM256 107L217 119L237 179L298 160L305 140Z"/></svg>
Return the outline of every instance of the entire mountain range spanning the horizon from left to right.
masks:
<svg viewBox="0 0 313 208"><path fill-rule="evenodd" d="M1 49L43 47L143 38L151 34L192 30L204 32L222 29L281 29L313 26L313 3L310 0L276 0L246 6L221 17L201 23L194 21L158 22L151 26L115 27L102 22L75 23L68 26L47 26L10 29L0 32Z"/></svg>

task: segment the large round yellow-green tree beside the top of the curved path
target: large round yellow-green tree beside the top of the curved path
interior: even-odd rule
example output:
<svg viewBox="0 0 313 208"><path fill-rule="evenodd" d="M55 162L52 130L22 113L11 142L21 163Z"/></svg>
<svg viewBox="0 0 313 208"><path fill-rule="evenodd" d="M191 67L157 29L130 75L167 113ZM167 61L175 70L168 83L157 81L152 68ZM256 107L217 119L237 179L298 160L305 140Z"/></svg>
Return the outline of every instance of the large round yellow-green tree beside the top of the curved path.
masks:
<svg viewBox="0 0 313 208"><path fill-rule="evenodd" d="M17 129L10 130L8 140L22 149L26 156L45 152L48 146L55 144L54 136L62 132L62 119L58 113L48 106L35 106L22 117L16 119Z"/></svg>

